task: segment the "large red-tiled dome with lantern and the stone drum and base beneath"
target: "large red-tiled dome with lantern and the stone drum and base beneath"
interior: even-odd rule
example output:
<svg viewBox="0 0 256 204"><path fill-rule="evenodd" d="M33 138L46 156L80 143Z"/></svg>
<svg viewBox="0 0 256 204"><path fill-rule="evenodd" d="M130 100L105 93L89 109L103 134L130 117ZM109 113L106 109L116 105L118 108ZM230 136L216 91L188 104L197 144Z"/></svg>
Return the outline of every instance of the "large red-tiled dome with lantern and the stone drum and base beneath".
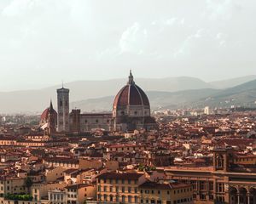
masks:
<svg viewBox="0 0 256 204"><path fill-rule="evenodd" d="M113 130L154 129L156 123L150 115L148 96L135 84L130 71L129 81L113 101Z"/></svg>

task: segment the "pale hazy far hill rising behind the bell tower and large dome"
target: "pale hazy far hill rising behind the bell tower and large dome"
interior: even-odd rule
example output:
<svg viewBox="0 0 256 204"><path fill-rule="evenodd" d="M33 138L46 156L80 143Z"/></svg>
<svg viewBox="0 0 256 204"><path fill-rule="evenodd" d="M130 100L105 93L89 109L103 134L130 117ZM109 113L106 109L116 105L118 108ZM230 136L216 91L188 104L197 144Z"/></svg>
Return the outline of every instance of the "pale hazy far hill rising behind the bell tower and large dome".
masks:
<svg viewBox="0 0 256 204"><path fill-rule="evenodd" d="M145 91L174 92L186 89L212 88L212 85L194 77L135 78L135 81ZM105 81L78 81L69 82L65 84L65 87L70 89L70 101L73 102L115 95L126 82L126 78ZM53 99L55 103L56 88L60 87L2 92L0 93L0 113L41 112L49 105L49 99ZM73 103L71 105L73 107Z"/></svg>

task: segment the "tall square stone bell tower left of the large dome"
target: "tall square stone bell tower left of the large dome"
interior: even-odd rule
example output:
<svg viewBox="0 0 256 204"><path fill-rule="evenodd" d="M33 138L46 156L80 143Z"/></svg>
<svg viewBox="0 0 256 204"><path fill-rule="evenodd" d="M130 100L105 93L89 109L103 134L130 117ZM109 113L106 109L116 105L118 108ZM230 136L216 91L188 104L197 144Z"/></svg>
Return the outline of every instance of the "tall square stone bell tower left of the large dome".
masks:
<svg viewBox="0 0 256 204"><path fill-rule="evenodd" d="M58 94L58 132L69 131L69 89L59 88Z"/></svg>

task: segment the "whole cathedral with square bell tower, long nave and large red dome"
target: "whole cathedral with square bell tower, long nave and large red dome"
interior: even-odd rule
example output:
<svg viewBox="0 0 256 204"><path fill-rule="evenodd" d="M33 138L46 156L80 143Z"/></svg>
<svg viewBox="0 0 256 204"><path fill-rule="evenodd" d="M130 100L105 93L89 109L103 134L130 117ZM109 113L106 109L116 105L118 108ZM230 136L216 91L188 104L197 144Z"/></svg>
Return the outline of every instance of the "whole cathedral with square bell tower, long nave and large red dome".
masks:
<svg viewBox="0 0 256 204"><path fill-rule="evenodd" d="M63 87L57 89L57 106L56 130L59 133L85 133L93 129L130 132L156 128L156 122L150 115L148 96L134 82L131 71L127 84L120 89L113 101L112 113L83 114L79 109L70 112L69 89ZM42 116L41 125L45 127Z"/></svg>

